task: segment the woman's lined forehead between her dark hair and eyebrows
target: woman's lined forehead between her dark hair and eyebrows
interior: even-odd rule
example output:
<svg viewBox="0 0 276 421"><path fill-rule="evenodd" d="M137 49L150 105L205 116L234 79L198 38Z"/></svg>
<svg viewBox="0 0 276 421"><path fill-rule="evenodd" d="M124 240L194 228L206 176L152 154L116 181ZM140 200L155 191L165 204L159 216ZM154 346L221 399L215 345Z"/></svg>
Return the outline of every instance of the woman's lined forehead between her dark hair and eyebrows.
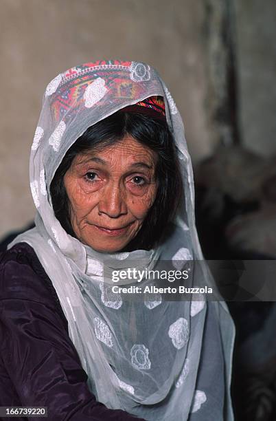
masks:
<svg viewBox="0 0 276 421"><path fill-rule="evenodd" d="M122 140L118 140L115 144L106 145L105 147L92 148L90 151L78 153L74 160L74 164L85 164L95 158L100 158L97 162L104 164L113 164L121 162L125 164L133 164L135 162L145 162L147 164L155 164L157 153L149 147L138 142L132 136L125 136Z"/></svg>

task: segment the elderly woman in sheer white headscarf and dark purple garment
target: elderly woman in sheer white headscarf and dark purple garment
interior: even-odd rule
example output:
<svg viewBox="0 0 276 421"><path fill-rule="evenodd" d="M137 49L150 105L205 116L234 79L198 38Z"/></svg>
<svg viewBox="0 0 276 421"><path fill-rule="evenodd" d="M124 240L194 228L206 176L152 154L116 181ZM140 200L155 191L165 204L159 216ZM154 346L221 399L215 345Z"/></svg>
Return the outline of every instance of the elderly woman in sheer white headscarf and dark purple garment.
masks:
<svg viewBox="0 0 276 421"><path fill-rule="evenodd" d="M157 72L98 61L54 78L30 179L36 228L1 259L0 406L47 407L50 420L233 420L225 303L113 290L115 268L203 259L183 123ZM200 270L191 285L209 284Z"/></svg>

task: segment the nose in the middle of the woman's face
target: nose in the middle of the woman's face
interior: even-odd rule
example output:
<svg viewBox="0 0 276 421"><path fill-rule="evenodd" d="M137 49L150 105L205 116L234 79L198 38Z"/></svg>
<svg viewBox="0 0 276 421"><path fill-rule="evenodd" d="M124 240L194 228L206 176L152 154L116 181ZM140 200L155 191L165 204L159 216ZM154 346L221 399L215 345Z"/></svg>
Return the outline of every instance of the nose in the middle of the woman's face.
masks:
<svg viewBox="0 0 276 421"><path fill-rule="evenodd" d="M117 183L108 183L102 191L102 197L98 204L99 214L104 213L111 218L126 215L127 206L124 192Z"/></svg>

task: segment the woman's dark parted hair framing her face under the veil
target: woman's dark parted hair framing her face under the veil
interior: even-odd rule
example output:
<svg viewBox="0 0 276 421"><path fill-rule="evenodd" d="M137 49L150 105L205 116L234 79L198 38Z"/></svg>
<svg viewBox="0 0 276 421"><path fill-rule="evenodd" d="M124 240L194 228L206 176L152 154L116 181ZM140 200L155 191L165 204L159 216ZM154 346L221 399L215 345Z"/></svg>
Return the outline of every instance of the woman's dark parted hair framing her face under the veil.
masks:
<svg viewBox="0 0 276 421"><path fill-rule="evenodd" d="M122 140L126 135L157 153L156 177L159 182L154 203L143 221L136 237L126 246L127 250L154 247L165 233L164 228L172 220L182 195L179 161L176 147L167 122L159 116L137 112L117 111L89 127L71 146L56 170L51 182L51 201L56 218L62 227L72 235L70 204L63 177L71 166L73 158L95 147L106 147Z"/></svg>

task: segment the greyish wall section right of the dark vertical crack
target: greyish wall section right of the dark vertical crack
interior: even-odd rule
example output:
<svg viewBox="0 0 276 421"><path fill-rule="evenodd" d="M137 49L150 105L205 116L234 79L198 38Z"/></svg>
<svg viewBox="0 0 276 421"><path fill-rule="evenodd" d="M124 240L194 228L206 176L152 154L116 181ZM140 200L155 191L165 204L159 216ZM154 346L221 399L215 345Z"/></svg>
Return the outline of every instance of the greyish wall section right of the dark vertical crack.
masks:
<svg viewBox="0 0 276 421"><path fill-rule="evenodd" d="M246 147L276 154L276 3L235 0L240 125Z"/></svg>

